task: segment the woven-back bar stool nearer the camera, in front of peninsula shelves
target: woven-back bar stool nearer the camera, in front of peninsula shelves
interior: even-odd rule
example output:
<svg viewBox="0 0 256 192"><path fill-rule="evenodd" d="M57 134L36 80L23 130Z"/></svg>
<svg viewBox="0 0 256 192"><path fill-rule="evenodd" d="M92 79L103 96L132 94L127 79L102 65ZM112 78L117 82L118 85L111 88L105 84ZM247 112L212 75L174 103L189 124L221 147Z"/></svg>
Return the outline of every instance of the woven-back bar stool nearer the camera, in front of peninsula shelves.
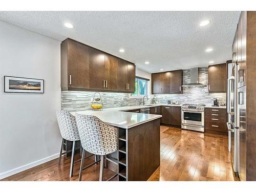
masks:
<svg viewBox="0 0 256 192"><path fill-rule="evenodd" d="M99 181L103 178L104 156L117 151L118 130L114 126L105 124L95 116L76 115L76 123L82 144L82 160L79 172L79 181L82 179L82 170L85 152L100 156L100 175ZM106 158L106 160L109 160ZM93 163L94 164L94 163ZM117 174L112 176L114 178Z"/></svg>

